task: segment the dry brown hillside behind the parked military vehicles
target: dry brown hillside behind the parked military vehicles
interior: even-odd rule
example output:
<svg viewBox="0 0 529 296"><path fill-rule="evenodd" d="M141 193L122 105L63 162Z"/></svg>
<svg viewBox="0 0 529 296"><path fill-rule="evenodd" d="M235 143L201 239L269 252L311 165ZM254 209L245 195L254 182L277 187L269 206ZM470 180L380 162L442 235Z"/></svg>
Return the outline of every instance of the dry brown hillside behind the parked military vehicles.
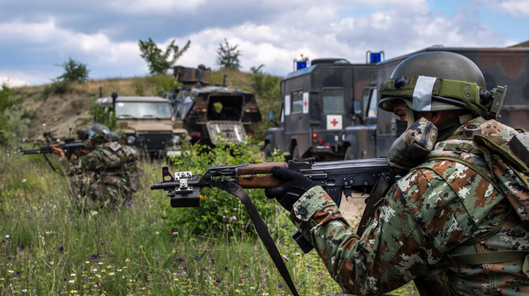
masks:
<svg viewBox="0 0 529 296"><path fill-rule="evenodd" d="M211 84L222 85L224 75L227 86L253 91L250 87L251 73L214 71ZM112 92L120 96L157 96L160 92L172 90L174 85L171 75L155 75L70 82L63 89L52 84L16 87L13 91L23 99L26 109L35 112L28 127L28 138L31 139L42 137L42 132L47 129L54 133L54 137L67 137L70 127L72 135L80 126L89 127L92 125L92 117L88 113L91 104L99 97L110 97Z"/></svg>

